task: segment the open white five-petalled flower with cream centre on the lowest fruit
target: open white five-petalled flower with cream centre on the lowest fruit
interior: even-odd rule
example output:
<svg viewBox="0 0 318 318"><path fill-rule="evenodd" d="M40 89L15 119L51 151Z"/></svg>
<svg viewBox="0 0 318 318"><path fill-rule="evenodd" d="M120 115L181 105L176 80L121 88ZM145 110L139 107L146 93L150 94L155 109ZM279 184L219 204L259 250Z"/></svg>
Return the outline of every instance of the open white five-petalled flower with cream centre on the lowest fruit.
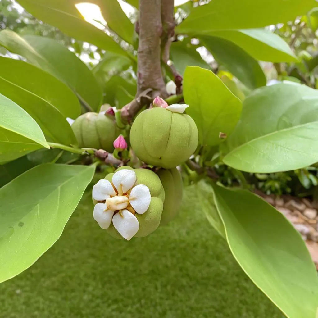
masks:
<svg viewBox="0 0 318 318"><path fill-rule="evenodd" d="M130 240L139 230L135 213L145 213L150 205L149 188L144 184L135 185L134 170L122 169L114 173L112 183L102 179L93 186L93 199L99 201L93 216L102 229L113 222L119 234Z"/></svg>

